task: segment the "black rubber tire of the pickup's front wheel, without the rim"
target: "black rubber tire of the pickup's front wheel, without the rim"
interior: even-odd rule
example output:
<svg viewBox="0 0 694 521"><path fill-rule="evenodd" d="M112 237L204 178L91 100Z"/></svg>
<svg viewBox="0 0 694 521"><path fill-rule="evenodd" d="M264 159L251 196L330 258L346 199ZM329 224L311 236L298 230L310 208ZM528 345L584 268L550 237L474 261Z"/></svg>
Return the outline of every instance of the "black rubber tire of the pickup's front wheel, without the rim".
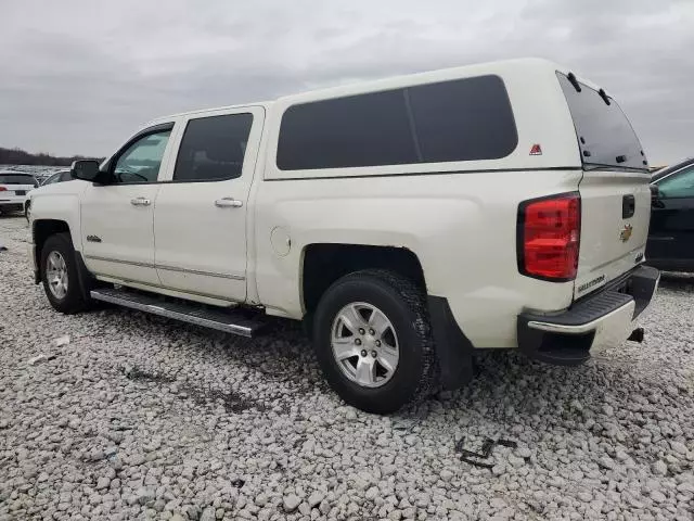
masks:
<svg viewBox="0 0 694 521"><path fill-rule="evenodd" d="M56 252L65 262L67 271L67 291L64 296L56 296L50 289L48 280L48 258L51 253ZM75 249L69 233L55 233L49 237L41 249L41 280L43 281L43 291L51 306L57 312L66 315L83 312L87 309L87 303L82 295L79 284L79 276L77 274L77 263L75 262Z"/></svg>

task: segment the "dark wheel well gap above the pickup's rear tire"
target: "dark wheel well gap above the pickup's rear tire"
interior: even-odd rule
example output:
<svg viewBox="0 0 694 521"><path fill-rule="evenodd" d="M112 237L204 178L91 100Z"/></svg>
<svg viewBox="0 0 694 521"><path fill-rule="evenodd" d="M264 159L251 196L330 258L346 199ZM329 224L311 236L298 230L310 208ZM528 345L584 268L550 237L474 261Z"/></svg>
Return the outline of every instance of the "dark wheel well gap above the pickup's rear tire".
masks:
<svg viewBox="0 0 694 521"><path fill-rule="evenodd" d="M406 247L360 244L309 244L304 251L304 309L312 314L322 294L340 277L362 269L388 269L426 290L416 255Z"/></svg>

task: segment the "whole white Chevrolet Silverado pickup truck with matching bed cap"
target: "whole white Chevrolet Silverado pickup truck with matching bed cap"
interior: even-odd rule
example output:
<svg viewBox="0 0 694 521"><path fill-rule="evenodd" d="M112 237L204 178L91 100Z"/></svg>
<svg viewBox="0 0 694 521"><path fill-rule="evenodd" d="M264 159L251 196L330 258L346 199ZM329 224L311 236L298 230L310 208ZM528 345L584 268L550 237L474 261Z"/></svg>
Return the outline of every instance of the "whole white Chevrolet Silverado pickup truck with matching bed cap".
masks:
<svg viewBox="0 0 694 521"><path fill-rule="evenodd" d="M639 340L659 278L633 129L543 60L167 116L72 174L89 182L31 194L55 309L249 336L304 320L333 389L369 411L467 382L475 350L576 365Z"/></svg>

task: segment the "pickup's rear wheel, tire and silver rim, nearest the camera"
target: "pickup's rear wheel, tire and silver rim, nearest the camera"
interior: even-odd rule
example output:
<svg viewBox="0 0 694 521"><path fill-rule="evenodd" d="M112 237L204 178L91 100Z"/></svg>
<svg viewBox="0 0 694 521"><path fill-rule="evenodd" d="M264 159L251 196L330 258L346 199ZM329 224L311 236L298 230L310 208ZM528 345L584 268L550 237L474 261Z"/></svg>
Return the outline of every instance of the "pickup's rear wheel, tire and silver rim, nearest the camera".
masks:
<svg viewBox="0 0 694 521"><path fill-rule="evenodd" d="M321 297L313 345L327 382L348 404L388 414L437 386L424 292L386 270L336 281Z"/></svg>

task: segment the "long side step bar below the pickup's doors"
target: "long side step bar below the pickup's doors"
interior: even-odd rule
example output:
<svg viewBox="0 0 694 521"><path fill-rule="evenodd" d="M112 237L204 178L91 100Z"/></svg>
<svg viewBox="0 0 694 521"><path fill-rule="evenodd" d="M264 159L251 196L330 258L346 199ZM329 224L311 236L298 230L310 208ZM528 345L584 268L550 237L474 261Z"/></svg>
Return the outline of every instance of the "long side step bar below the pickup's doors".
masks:
<svg viewBox="0 0 694 521"><path fill-rule="evenodd" d="M204 328L240 334L241 336L252 338L262 327L262 322L245 317L237 309L210 309L196 304L165 301L155 295L136 293L123 289L104 288L93 290L90 294L95 301L108 302Z"/></svg>

